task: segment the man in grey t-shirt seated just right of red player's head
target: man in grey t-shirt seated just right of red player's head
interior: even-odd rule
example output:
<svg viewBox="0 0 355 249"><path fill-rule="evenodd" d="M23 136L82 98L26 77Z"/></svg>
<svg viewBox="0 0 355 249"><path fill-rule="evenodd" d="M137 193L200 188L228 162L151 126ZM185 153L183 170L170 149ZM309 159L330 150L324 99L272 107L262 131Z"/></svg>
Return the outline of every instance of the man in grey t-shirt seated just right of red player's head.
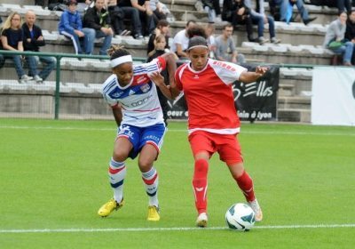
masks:
<svg viewBox="0 0 355 249"><path fill-rule="evenodd" d="M233 25L226 24L223 27L222 35L216 38L216 58L217 60L229 61L236 64L245 63L243 54L238 53L233 41Z"/></svg>

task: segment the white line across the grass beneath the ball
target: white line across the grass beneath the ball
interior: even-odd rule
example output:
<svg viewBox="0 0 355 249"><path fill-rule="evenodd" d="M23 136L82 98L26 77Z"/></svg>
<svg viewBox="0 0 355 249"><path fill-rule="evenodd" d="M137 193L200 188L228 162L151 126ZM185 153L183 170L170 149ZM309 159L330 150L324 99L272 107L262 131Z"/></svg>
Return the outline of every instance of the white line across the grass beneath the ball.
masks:
<svg viewBox="0 0 355 249"><path fill-rule="evenodd" d="M316 224L316 225L279 225L256 226L253 229L340 229L355 228L355 224ZM226 227L211 228L126 228L126 229L0 229L0 234L13 233L96 233L96 232L149 232L149 231L193 231L227 230Z"/></svg>

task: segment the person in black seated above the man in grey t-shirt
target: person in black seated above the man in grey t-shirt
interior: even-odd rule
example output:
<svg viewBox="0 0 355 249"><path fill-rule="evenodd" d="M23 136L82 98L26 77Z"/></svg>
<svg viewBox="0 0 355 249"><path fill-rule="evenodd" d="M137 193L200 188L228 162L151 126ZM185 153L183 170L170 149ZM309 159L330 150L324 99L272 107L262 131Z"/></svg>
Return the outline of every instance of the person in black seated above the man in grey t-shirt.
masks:
<svg viewBox="0 0 355 249"><path fill-rule="evenodd" d="M253 21L250 17L250 10L244 4L244 0L225 0L223 2L222 20L232 22L233 27L244 24L247 28L248 41L256 42L253 36Z"/></svg>

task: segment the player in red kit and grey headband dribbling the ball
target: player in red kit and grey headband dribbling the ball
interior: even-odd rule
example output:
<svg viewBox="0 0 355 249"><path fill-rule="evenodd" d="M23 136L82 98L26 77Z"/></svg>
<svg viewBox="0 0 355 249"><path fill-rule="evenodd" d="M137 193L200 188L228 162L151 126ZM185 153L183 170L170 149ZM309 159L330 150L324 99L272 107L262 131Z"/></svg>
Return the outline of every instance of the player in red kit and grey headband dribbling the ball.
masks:
<svg viewBox="0 0 355 249"><path fill-rule="evenodd" d="M263 219L262 210L256 200L253 181L244 169L241 146L237 139L240 120L234 107L232 84L255 82L264 76L268 68L257 67L248 72L239 65L209 59L209 47L205 38L194 36L190 39L187 54L191 62L177 68L175 84L161 87L160 76L154 83L170 99L184 91L188 117L188 140L194 157L193 191L198 212L196 225L206 227L207 216L207 174L209 158L218 152L233 179L256 213L256 221Z"/></svg>

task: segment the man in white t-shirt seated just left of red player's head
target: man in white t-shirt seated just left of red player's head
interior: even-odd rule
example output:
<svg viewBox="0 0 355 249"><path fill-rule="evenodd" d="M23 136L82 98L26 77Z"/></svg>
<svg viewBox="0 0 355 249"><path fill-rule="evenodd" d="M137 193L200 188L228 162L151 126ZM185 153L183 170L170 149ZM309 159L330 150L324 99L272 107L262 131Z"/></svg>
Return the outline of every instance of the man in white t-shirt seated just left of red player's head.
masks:
<svg viewBox="0 0 355 249"><path fill-rule="evenodd" d="M189 20L185 25L185 29L180 30L174 36L174 40L171 44L171 52L175 52L180 59L187 58L186 49L189 42L188 30L196 26L196 21Z"/></svg>

